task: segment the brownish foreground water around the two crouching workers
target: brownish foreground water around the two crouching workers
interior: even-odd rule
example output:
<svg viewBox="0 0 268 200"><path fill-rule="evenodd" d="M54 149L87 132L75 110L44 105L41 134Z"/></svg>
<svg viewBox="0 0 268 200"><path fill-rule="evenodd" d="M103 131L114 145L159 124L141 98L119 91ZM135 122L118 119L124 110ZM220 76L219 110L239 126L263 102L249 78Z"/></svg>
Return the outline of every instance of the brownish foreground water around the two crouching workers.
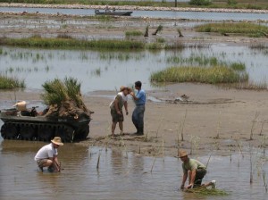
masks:
<svg viewBox="0 0 268 200"><path fill-rule="evenodd" d="M34 156L43 142L0 141L0 199L267 199L262 175L268 172L267 157L254 154L254 180L249 184L249 156L213 155L205 181L230 196L197 196L179 191L181 162L177 158L142 157L116 149L65 144L59 149L64 170L38 172ZM96 162L101 151L99 169ZM199 157L207 162L208 156ZM262 165L256 164L257 162ZM258 166L259 165L259 166ZM268 179L266 178L266 181Z"/></svg>

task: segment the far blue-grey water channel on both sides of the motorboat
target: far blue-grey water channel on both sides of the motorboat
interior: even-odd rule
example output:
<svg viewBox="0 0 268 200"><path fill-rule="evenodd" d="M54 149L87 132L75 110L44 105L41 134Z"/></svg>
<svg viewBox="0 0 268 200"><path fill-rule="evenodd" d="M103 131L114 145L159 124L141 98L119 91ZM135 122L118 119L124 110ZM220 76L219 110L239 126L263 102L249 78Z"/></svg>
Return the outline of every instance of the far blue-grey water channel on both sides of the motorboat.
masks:
<svg viewBox="0 0 268 200"><path fill-rule="evenodd" d="M93 9L52 9L52 8L13 8L0 7L0 12L40 12L76 15L95 15ZM173 11L134 11L133 17L154 17L154 18L178 18L188 20L207 21L257 21L268 20L267 13L240 13L240 12L173 12Z"/></svg>

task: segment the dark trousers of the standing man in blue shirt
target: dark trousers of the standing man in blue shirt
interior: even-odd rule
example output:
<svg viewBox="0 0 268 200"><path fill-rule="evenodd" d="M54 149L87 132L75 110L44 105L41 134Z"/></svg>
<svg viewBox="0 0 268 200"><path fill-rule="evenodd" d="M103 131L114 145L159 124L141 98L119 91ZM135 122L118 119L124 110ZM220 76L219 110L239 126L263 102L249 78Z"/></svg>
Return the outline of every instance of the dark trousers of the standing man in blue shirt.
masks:
<svg viewBox="0 0 268 200"><path fill-rule="evenodd" d="M145 105L136 105L132 113L132 122L138 134L143 134Z"/></svg>

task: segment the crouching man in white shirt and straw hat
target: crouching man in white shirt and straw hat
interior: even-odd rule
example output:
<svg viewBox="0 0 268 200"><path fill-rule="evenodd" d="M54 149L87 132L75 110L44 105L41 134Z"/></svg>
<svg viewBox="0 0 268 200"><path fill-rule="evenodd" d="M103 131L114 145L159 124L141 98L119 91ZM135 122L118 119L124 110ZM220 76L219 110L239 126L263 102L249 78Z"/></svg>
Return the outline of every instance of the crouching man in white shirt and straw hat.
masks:
<svg viewBox="0 0 268 200"><path fill-rule="evenodd" d="M54 137L50 144L39 149L35 156L38 171L43 171L43 167L47 167L48 171L61 171L61 165L57 158L59 146L63 146L61 137Z"/></svg>

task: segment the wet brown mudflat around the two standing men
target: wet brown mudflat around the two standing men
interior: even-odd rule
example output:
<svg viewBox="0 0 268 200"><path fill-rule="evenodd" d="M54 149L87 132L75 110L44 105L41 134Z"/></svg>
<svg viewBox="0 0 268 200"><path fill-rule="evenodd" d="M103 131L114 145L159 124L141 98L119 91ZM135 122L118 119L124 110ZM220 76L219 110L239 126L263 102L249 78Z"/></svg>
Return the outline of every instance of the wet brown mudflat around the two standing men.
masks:
<svg viewBox="0 0 268 200"><path fill-rule="evenodd" d="M93 110L90 134L81 146L118 146L142 155L160 155L164 146L166 155L175 156L178 147L198 149L199 154L217 150L220 154L239 151L239 146L249 144L256 148L266 146L268 97L267 91L222 89L210 85L176 84L164 90L147 91L159 103L148 101L144 137L133 135L135 128L131 116L125 116L123 137L111 138L109 96L113 92L99 91L84 96L85 103ZM188 102L176 102L176 97L186 94ZM17 92L17 99L39 100L38 93ZM14 99L12 91L1 91L0 101ZM134 104L129 100L130 113ZM257 115L256 115L257 114ZM255 116L257 118L255 119ZM183 129L182 129L183 128ZM253 139L249 140L252 134ZM183 137L183 140L182 140ZM178 141L179 138L179 141ZM161 153L162 154L162 153Z"/></svg>

